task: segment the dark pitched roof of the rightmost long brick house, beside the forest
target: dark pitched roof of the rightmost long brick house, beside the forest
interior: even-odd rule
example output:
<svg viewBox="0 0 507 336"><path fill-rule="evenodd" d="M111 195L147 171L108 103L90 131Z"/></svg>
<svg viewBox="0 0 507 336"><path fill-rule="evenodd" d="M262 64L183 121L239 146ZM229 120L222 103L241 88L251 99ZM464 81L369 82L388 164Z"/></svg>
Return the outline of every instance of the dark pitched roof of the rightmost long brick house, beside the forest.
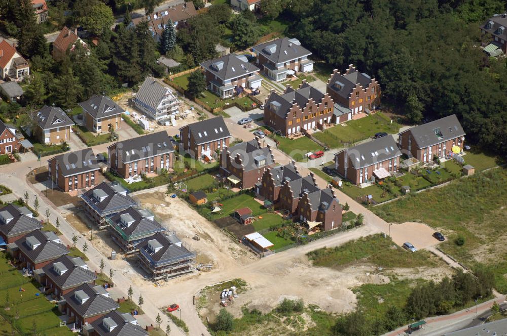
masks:
<svg viewBox="0 0 507 336"><path fill-rule="evenodd" d="M426 148L465 135L456 114L413 127L400 134L405 132L412 133L417 148Z"/></svg>

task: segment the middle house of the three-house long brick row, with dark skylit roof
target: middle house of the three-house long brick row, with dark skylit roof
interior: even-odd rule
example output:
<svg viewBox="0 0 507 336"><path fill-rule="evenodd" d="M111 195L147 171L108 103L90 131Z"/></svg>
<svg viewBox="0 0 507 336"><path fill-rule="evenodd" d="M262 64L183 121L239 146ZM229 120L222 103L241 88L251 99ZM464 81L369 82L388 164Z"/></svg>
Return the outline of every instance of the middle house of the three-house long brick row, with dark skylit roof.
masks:
<svg viewBox="0 0 507 336"><path fill-rule="evenodd" d="M108 164L124 179L172 169L174 148L166 131L116 142L107 150Z"/></svg>

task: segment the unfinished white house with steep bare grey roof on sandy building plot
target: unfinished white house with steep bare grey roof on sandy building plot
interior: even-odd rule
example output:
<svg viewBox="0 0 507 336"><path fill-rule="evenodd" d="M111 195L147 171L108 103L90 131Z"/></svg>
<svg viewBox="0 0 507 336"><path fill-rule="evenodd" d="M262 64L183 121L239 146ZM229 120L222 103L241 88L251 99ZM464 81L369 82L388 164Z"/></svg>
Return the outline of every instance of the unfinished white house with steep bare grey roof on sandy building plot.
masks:
<svg viewBox="0 0 507 336"><path fill-rule="evenodd" d="M179 101L172 90L152 77L144 79L133 102L136 108L155 120L178 113Z"/></svg>

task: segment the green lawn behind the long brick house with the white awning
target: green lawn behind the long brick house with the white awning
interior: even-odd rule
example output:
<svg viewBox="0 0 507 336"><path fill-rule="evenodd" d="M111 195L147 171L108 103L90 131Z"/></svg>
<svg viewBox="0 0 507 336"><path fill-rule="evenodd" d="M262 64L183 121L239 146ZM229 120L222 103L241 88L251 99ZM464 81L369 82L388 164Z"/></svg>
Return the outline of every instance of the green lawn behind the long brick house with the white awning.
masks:
<svg viewBox="0 0 507 336"><path fill-rule="evenodd" d="M345 125L345 126L344 126ZM390 123L390 119L377 112L375 114L350 120L336 125L323 132L317 132L314 137L330 148L344 147L352 145L358 141L368 139L378 132L398 133L400 125L396 122Z"/></svg>

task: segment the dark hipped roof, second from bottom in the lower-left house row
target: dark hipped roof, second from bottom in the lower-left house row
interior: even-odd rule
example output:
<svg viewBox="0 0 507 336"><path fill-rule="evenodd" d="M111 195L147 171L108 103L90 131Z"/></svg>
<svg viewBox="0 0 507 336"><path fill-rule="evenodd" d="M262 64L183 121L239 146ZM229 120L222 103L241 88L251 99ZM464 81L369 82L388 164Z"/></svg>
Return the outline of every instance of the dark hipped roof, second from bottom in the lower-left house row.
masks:
<svg viewBox="0 0 507 336"><path fill-rule="evenodd" d="M78 297L84 299L81 303ZM81 317L89 317L111 312L120 307L113 299L103 294L101 286L93 286L88 283L82 284L63 296L67 305L72 307Z"/></svg>

